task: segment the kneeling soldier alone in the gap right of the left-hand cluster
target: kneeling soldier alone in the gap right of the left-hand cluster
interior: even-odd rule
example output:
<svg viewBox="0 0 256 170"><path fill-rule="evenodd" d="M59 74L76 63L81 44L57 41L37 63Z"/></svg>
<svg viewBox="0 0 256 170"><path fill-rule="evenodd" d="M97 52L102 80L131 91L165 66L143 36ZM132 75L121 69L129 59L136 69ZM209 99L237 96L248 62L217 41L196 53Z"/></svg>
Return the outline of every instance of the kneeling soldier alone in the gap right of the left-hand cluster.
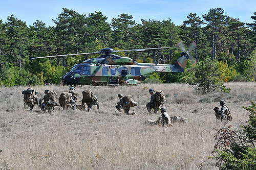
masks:
<svg viewBox="0 0 256 170"><path fill-rule="evenodd" d="M119 102L117 102L116 104L116 109L121 112L121 109L124 110L124 112L127 115L136 115L136 112L133 111L132 113L129 113L130 108L137 106L138 104L133 100L133 96L131 95L125 95L123 96L123 94L118 94L118 98L119 98ZM130 102L125 101L125 99L130 99ZM134 103L135 105L133 105L132 103Z"/></svg>

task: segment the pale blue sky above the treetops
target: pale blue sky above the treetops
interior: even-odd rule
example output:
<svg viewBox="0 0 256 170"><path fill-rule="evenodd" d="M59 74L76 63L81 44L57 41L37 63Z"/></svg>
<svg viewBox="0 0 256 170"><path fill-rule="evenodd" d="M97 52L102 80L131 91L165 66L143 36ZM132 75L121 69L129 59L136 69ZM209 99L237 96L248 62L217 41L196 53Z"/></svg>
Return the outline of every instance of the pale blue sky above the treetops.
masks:
<svg viewBox="0 0 256 170"><path fill-rule="evenodd" d="M32 26L36 20L46 23L46 26L55 26L52 19L56 19L63 12L62 8L68 8L79 14L101 11L112 18L124 13L133 16L133 20L141 23L141 19L167 20L172 19L176 26L182 25L187 20L189 13L197 13L201 19L211 8L222 8L224 14L232 18L239 18L245 23L252 23L251 19L256 12L256 1L237 0L0 0L0 19L7 21L7 17L14 15L17 19L26 21L27 26Z"/></svg>

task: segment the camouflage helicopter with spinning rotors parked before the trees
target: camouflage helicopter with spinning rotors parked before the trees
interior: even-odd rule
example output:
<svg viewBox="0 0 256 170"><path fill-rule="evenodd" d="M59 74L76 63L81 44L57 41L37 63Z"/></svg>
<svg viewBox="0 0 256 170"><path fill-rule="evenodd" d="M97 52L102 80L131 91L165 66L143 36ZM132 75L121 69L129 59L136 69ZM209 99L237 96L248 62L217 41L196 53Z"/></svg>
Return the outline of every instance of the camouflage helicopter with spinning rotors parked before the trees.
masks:
<svg viewBox="0 0 256 170"><path fill-rule="evenodd" d="M32 59L87 54L102 54L98 58L87 59L82 63L74 65L73 68L61 78L63 85L134 85L141 83L146 78L154 74L154 72L184 72L188 59L190 58L190 60L193 60L193 58L189 54L190 50L185 50L182 42L180 42L177 46L180 47L183 52L181 53L180 58L178 58L178 60L174 64L138 63L137 61L129 57L120 57L118 55L112 54L116 52L141 52L145 50L156 50L173 47L144 48L121 51L115 51L112 48L103 48L100 52L94 53L46 56L36 57ZM190 45L189 49L194 48L195 46L196 43L194 42L192 45Z"/></svg>

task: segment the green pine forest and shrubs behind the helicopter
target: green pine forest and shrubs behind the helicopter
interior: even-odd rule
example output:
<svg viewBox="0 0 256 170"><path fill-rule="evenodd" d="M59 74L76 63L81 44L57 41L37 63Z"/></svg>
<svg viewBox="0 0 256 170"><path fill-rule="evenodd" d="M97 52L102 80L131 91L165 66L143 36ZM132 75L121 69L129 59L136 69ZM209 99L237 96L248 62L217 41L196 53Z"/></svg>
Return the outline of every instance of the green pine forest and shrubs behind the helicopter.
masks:
<svg viewBox="0 0 256 170"><path fill-rule="evenodd" d="M30 60L34 57L90 53L105 47L130 50L176 46L181 40L186 47L196 42L193 56L198 64L188 64L184 73L154 74L153 80L189 84L205 71L218 71L222 82L256 80L256 12L251 16L252 23L244 23L227 16L222 8L209 9L202 16L189 13L180 26L171 18L141 19L141 24L130 14L120 14L111 23L107 18L100 11L86 15L67 8L53 19L54 27L46 27L40 20L27 26L26 21L13 15L5 23L0 18L0 85L60 84L61 77L76 63L98 55ZM119 55L138 62L173 64L180 52L170 48Z"/></svg>

